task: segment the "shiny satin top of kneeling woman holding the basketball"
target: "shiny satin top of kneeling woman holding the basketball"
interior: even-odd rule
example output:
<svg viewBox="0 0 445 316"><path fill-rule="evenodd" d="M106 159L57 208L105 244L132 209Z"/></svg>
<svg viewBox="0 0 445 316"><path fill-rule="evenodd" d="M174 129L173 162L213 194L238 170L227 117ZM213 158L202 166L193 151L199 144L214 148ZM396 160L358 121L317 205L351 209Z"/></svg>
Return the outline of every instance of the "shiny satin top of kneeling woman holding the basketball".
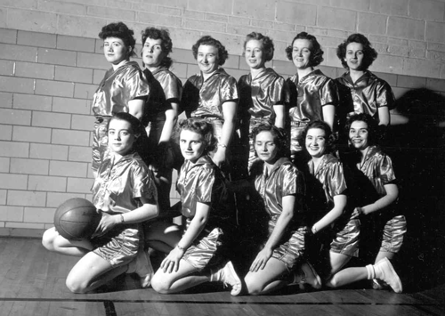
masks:
<svg viewBox="0 0 445 316"><path fill-rule="evenodd" d="M142 207L139 198L156 204L157 189L153 175L138 153L122 157L116 163L110 154L99 166L93 184L93 204L107 213L127 213Z"/></svg>

